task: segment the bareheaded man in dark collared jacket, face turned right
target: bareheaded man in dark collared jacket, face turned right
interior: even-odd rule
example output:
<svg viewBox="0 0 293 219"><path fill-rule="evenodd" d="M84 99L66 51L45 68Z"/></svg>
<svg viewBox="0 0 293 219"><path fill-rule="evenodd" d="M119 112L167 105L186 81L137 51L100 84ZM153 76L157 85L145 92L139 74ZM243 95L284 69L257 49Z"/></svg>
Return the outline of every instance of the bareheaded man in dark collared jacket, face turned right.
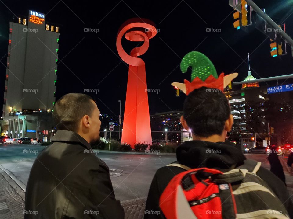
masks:
<svg viewBox="0 0 293 219"><path fill-rule="evenodd" d="M69 93L54 106L53 144L35 160L27 182L24 218L123 219L108 166L93 153L99 109L85 94Z"/></svg>

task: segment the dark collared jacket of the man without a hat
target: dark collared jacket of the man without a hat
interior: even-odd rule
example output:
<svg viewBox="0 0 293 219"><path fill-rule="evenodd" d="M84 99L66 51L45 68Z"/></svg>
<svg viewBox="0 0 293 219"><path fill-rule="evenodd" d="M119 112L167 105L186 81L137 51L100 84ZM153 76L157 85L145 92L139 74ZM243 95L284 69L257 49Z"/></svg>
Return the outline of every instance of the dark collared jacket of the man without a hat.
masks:
<svg viewBox="0 0 293 219"><path fill-rule="evenodd" d="M58 130L52 142L31 168L24 218L123 219L124 210L115 199L109 168L90 153L89 143L66 130Z"/></svg>

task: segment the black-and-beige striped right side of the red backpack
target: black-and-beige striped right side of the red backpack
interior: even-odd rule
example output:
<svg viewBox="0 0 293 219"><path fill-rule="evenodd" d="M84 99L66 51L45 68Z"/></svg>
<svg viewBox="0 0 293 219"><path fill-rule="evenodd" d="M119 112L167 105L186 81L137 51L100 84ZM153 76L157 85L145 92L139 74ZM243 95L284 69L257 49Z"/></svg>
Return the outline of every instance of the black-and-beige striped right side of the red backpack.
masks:
<svg viewBox="0 0 293 219"><path fill-rule="evenodd" d="M236 217L288 219L284 204L267 183L256 175L260 167L260 162L246 160L243 165L221 176L220 180L225 180L226 176L226 181L231 183L233 199L237 207ZM235 181L232 182L232 179Z"/></svg>

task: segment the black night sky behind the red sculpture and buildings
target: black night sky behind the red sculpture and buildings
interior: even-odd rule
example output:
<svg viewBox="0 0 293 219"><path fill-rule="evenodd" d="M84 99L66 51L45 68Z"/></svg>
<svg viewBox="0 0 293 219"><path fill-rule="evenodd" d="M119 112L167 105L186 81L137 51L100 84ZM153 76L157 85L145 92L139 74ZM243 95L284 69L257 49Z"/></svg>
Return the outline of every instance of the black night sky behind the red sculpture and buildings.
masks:
<svg viewBox="0 0 293 219"><path fill-rule="evenodd" d="M293 37L292 0L255 0L277 23L286 23L286 33ZM252 75L264 78L291 74L291 49L281 58L270 56L270 41L253 29L248 33L233 27L233 8L229 1L0 1L0 87L4 88L9 21L13 16L28 16L28 10L46 14L46 21L60 27L56 100L70 92L85 88L99 89L92 95L101 113L119 114L118 100L124 109L128 64L116 50L119 27L134 17L152 20L160 30L150 39L150 47L140 56L146 64L147 87L160 89L149 93L150 113L182 110L184 94L175 96L172 82L190 80L189 70L183 74L179 64L185 54L200 51L214 63L218 73L239 72L235 81L247 76L247 54L250 54ZM84 32L84 28L98 28L99 32ZM206 28L220 28L221 32L206 32ZM136 42L125 38L125 51ZM37 49L37 48L36 48ZM61 60L61 61L60 61ZM3 89L0 92L0 108Z"/></svg>

